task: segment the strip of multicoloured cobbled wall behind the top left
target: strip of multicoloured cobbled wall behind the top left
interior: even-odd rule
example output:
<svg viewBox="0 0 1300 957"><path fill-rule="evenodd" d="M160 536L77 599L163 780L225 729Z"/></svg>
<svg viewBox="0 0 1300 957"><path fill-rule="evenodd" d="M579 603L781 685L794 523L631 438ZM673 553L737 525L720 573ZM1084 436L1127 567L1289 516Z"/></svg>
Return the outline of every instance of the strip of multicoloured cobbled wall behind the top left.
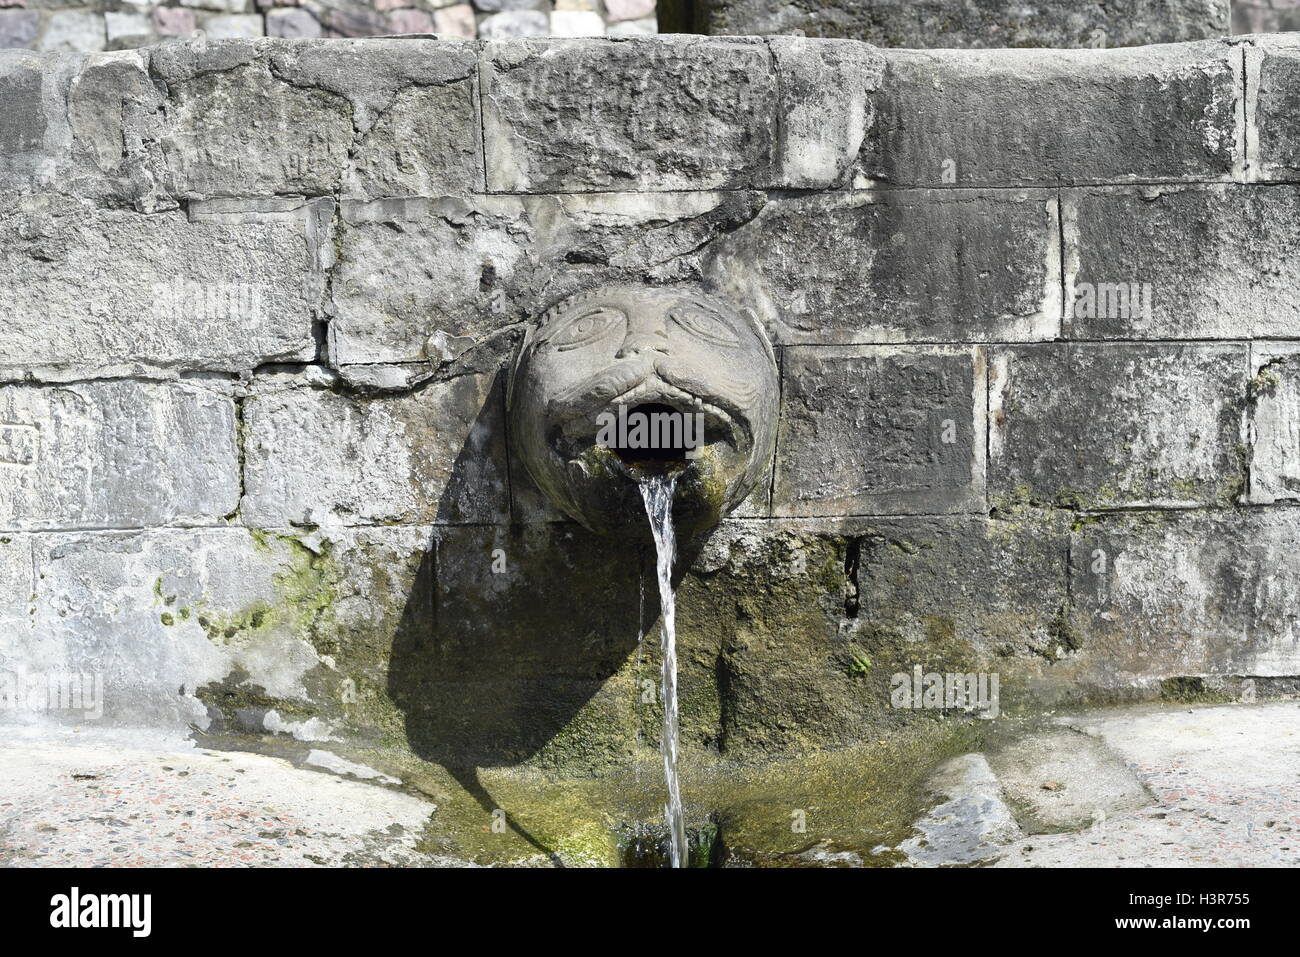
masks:
<svg viewBox="0 0 1300 957"><path fill-rule="evenodd" d="M0 49L92 53L208 39L644 35L654 0L0 0Z"/></svg>

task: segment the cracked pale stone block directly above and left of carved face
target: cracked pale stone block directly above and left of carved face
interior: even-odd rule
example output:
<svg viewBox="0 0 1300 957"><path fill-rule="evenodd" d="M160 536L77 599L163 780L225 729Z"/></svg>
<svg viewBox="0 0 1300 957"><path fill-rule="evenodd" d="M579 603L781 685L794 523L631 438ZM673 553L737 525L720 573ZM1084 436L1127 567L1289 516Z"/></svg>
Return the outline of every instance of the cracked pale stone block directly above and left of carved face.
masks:
<svg viewBox="0 0 1300 957"><path fill-rule="evenodd" d="M601 194L344 203L332 283L337 363L438 359L580 289L692 280L751 194Z"/></svg>

